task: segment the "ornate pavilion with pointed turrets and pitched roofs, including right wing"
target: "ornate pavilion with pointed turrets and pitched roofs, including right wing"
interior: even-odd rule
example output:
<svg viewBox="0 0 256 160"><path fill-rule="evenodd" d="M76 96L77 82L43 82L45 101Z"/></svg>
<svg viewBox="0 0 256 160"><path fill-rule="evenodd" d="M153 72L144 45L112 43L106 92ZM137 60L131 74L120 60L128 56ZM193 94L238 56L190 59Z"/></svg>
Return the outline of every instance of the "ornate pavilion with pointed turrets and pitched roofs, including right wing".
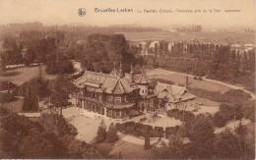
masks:
<svg viewBox="0 0 256 160"><path fill-rule="evenodd" d="M169 89L171 85L150 80L144 69L135 80L132 66L130 74L124 74L121 68L110 74L85 71L74 83L80 90L76 94L77 107L112 119L165 114L167 109L195 98L180 86Z"/></svg>

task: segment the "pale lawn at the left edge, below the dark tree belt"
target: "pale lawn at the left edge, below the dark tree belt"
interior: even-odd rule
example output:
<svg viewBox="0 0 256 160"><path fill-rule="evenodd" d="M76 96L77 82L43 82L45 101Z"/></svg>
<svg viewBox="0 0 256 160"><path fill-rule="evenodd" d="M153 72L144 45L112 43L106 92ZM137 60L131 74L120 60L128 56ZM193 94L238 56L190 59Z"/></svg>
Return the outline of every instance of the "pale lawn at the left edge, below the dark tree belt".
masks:
<svg viewBox="0 0 256 160"><path fill-rule="evenodd" d="M24 82L32 80L32 78L37 77L38 73L39 73L38 67L24 67L24 68L18 68L14 70L8 70L4 75L0 75L0 81L10 80L17 85L21 85ZM44 79L53 80L56 78L56 76L51 76L46 74L45 66L41 67L41 73Z"/></svg>

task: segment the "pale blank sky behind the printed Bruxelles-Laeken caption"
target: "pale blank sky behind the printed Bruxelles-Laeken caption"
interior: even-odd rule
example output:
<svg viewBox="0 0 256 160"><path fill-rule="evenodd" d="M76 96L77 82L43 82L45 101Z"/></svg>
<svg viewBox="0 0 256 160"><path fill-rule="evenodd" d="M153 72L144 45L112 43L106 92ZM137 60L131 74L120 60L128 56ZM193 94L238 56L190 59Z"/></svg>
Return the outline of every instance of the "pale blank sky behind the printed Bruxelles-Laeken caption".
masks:
<svg viewBox="0 0 256 160"><path fill-rule="evenodd" d="M78 16L78 9L87 14ZM95 8L130 8L133 13L101 13ZM144 9L172 13L144 13ZM177 13L179 10L222 10L221 13ZM224 10L239 10L226 13ZM138 10L142 13L138 13ZM84 24L90 26L135 25L168 27L255 27L256 0L0 0L0 25L40 22L44 25Z"/></svg>

